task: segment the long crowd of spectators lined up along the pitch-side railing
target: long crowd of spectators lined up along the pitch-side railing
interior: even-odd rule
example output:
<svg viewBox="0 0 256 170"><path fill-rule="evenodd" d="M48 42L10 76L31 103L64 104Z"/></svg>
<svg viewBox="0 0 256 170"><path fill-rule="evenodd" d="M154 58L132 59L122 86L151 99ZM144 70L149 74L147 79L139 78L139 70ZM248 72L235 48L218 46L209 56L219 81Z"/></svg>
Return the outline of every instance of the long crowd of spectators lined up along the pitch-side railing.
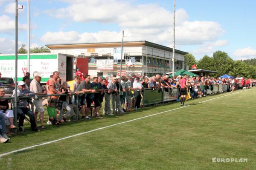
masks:
<svg viewBox="0 0 256 170"><path fill-rule="evenodd" d="M78 70L79 71L79 70ZM46 88L41 85L41 74L33 73L33 79L27 73L22 81L18 83L17 93L17 117L18 128L24 132L23 122L26 116L29 118L31 130L38 132L46 130L44 126L44 102L42 95L51 95L47 98L47 124L59 126L60 123L67 122L67 118L75 120L75 106L81 108L80 120L90 120L92 118L103 118L100 114L102 107L103 115L124 114L125 112L137 111L144 107L142 102L143 90L145 89L178 89L178 97L181 96L181 105L184 106L184 89L189 92L192 99L203 97L207 94L207 89L214 85L227 85L227 91L255 86L255 79L245 78L213 78L210 76L184 76L169 77L169 75L155 75L152 77L132 74L131 76L111 75L110 78L101 76L91 78L90 75L77 73L74 77L73 89L70 84L61 82L59 72L53 72L47 81ZM204 86L204 88L202 88ZM63 94L63 95L61 95ZM14 114L10 109L11 104L4 97L5 89L0 87L0 142L5 143L13 135ZM58 95L58 96L56 96ZM22 96L30 96L26 98ZM77 98L78 96L78 98ZM105 102L103 104L103 101ZM89 117L89 112L92 112ZM64 114L65 112L65 114ZM37 126L39 113L40 126Z"/></svg>

